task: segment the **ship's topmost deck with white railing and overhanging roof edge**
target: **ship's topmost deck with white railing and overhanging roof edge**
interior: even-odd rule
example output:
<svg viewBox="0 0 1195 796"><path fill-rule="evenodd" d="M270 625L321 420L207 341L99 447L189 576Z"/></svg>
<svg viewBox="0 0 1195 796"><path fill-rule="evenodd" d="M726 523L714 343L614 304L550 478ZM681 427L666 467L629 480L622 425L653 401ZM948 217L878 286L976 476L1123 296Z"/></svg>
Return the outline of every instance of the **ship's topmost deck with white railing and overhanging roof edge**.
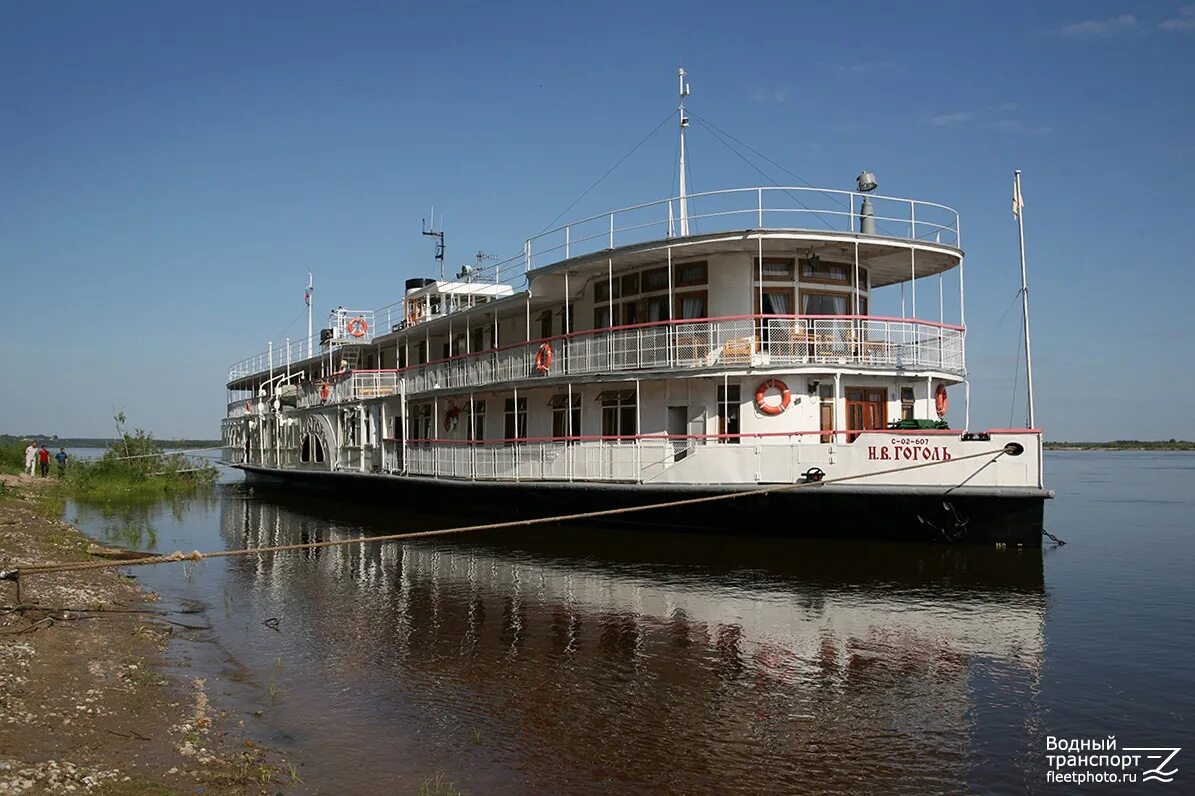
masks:
<svg viewBox="0 0 1195 796"><path fill-rule="evenodd" d="M684 224L680 197L619 208L526 238L521 252L478 268L464 281L412 290L373 311L338 310L330 337L269 343L265 351L229 367L228 386L320 359L336 371L342 349L410 333L415 326L422 333L424 326L451 324L479 304L495 313L504 307L516 312L532 295L559 295L570 273L598 271L615 261L646 263L658 259L661 250L672 257L674 251L705 256L758 247L762 255L765 240L795 250L836 246L866 263L872 288L940 274L962 262L958 213L933 202L803 186L709 191L686 201ZM350 329L357 319L366 323Z"/></svg>

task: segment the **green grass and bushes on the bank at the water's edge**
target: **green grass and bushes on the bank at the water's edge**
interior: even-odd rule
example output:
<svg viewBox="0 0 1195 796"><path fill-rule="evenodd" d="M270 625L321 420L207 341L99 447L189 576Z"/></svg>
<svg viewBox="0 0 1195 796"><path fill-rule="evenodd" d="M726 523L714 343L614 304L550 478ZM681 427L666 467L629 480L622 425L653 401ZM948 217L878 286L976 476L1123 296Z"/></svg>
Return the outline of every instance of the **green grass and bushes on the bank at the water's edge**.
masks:
<svg viewBox="0 0 1195 796"><path fill-rule="evenodd" d="M0 446L0 471L24 472L27 440ZM137 429L123 434L96 459L71 458L60 478L50 451L50 476L45 500L54 497L88 502L146 502L190 494L215 483L216 469L198 465L183 453L166 453L152 435Z"/></svg>

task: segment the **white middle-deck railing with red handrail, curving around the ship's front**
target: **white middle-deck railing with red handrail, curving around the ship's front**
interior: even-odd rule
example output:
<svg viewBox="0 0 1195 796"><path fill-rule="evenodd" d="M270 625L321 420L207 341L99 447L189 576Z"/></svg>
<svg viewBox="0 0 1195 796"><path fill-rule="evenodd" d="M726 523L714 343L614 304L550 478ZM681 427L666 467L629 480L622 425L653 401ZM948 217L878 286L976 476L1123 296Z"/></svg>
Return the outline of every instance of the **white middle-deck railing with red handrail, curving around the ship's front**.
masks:
<svg viewBox="0 0 1195 796"><path fill-rule="evenodd" d="M407 394L556 375L648 369L852 365L963 375L964 331L920 320L870 317L739 317L679 320L551 338L403 371Z"/></svg>

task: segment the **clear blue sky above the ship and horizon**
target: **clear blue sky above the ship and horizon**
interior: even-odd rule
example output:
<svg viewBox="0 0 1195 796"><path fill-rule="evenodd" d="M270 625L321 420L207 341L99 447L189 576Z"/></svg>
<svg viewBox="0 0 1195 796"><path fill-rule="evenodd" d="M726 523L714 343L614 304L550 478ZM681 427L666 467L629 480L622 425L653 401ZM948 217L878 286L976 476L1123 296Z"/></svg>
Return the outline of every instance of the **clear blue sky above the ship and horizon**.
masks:
<svg viewBox="0 0 1195 796"><path fill-rule="evenodd" d="M1019 167L1040 424L1195 437L1195 6L728 10L4 4L0 431L104 434L116 408L216 436L228 363L304 333L308 270L320 314L397 299L433 270L433 202L451 265L517 251L684 65L694 115L802 178L870 169L962 213L973 427L1024 420ZM673 194L675 146L666 125L569 216ZM690 148L694 190L766 184L699 124Z"/></svg>

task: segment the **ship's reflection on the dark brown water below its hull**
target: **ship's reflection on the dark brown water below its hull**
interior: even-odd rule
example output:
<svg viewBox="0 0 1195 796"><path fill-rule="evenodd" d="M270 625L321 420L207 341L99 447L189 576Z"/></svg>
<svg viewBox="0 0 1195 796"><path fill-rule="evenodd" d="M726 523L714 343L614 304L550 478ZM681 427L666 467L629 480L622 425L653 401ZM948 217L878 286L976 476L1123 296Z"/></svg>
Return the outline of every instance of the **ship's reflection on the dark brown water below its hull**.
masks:
<svg viewBox="0 0 1195 796"><path fill-rule="evenodd" d="M221 509L228 546L419 525ZM342 791L1019 790L1034 754L1040 550L544 527L231 559L222 588L283 618L234 653L286 661L278 721Z"/></svg>

